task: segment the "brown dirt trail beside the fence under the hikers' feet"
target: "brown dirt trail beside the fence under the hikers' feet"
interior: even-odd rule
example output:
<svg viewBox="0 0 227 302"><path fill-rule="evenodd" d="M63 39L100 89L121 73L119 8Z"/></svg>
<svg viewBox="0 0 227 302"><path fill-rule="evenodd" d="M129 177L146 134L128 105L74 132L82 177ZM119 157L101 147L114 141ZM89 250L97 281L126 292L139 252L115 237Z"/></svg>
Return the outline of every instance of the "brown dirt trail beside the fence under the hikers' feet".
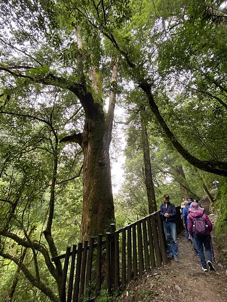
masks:
<svg viewBox="0 0 227 302"><path fill-rule="evenodd" d="M215 215L209 216L215 223ZM179 262L171 260L164 267L131 282L120 301L227 302L227 267L219 262L215 245L215 271L208 272L202 271L200 259L193 255L193 248L184 233L178 236L178 248Z"/></svg>

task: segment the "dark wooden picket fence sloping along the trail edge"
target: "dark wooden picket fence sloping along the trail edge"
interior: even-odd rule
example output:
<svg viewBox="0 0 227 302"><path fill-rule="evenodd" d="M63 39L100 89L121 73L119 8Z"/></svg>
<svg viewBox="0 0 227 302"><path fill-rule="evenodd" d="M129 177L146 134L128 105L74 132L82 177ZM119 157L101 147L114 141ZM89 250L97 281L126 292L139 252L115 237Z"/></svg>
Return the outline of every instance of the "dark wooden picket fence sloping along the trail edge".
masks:
<svg viewBox="0 0 227 302"><path fill-rule="evenodd" d="M133 278L168 262L160 212L117 231L110 224L110 233L67 247L52 261L64 258L61 302L94 301L101 289L124 290Z"/></svg>

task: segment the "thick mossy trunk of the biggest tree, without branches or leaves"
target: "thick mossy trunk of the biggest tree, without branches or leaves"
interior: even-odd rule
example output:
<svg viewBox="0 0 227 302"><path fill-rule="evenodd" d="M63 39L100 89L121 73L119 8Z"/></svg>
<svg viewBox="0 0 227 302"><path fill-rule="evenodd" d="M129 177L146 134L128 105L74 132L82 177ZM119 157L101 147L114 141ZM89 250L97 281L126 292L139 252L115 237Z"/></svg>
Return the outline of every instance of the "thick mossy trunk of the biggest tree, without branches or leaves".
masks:
<svg viewBox="0 0 227 302"><path fill-rule="evenodd" d="M116 103L118 68L119 63L116 59L112 68L111 93L106 120L102 107L99 105L99 114L94 119L86 118L85 121L82 141L84 153L82 241L90 236L104 233L115 219L109 145ZM91 79L97 79L95 73L95 69L92 68L90 71ZM97 81L92 86L98 93Z"/></svg>

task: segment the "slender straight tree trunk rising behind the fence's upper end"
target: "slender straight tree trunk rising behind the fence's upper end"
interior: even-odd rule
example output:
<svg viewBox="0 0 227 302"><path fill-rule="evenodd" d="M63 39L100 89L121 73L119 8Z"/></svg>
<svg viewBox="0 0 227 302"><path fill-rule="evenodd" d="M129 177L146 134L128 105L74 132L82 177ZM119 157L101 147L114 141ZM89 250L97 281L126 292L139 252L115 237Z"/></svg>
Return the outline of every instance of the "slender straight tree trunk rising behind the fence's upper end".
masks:
<svg viewBox="0 0 227 302"><path fill-rule="evenodd" d="M141 114L141 127L142 127L141 140L143 146L143 159L144 159L144 167L145 167L145 185L147 191L149 214L151 214L157 210L157 204L155 199L154 183L153 183L152 170L151 170L150 149L149 149L149 142L147 137L147 127L145 121L144 108L140 110L140 114Z"/></svg>

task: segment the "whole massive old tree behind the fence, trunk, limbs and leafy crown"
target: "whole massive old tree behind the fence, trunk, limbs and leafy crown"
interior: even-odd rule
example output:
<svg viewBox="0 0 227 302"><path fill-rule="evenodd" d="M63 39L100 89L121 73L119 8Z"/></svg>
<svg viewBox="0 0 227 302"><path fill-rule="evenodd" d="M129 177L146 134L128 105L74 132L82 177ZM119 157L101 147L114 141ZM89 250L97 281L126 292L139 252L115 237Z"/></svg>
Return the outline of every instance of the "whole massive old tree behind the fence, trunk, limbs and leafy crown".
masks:
<svg viewBox="0 0 227 302"><path fill-rule="evenodd" d="M77 10L72 4L52 4L19 2L17 16L11 4L3 5L4 17L15 19L14 28L8 37L1 38L5 88L2 98L14 96L16 86L55 87L68 90L81 103L84 115L82 132L56 139L76 142L83 151L83 214L81 239L105 231L106 225L114 219L109 144L111 141L113 112L115 109L118 59L109 61L112 76L109 78L110 95L107 116L103 110L100 53L103 52L99 35L90 35L86 23L78 21ZM70 20L67 16L70 15ZM9 31L3 26L3 33ZM61 32L61 33L60 33ZM93 44L92 44L93 43ZM6 58L7 57L7 58ZM106 65L107 66L107 65ZM105 67L106 68L106 67ZM9 81L12 84L8 84ZM12 87L13 86L13 87ZM7 114L7 102L2 107ZM75 115L78 112L75 112ZM61 139L60 139L61 138ZM51 209L51 208L50 208Z"/></svg>

